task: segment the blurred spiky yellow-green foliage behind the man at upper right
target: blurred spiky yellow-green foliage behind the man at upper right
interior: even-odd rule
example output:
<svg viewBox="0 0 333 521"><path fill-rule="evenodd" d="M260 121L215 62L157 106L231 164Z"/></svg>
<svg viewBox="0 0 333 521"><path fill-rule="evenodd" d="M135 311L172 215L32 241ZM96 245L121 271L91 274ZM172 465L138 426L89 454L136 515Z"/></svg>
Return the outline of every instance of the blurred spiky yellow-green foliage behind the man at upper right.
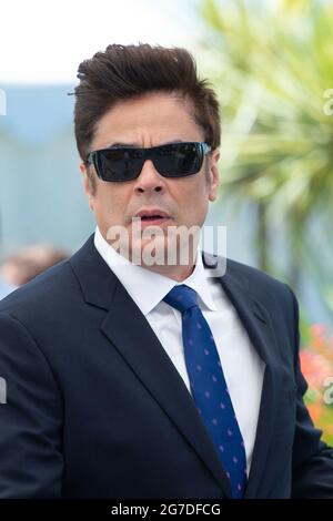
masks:
<svg viewBox="0 0 333 521"><path fill-rule="evenodd" d="M200 13L204 75L222 105L221 195L260 207L262 266L276 273L262 245L283 233L284 278L293 285L302 263L333 313L333 6L204 0Z"/></svg>

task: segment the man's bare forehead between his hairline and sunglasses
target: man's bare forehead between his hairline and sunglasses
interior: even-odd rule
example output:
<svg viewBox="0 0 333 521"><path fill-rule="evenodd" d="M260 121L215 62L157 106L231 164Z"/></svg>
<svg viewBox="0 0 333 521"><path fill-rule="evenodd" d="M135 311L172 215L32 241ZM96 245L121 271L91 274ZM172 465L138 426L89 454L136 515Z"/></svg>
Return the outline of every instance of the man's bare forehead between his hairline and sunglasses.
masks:
<svg viewBox="0 0 333 521"><path fill-rule="evenodd" d="M114 143L154 146L202 139L189 101L175 94L148 93L112 106L97 125L93 147Z"/></svg>

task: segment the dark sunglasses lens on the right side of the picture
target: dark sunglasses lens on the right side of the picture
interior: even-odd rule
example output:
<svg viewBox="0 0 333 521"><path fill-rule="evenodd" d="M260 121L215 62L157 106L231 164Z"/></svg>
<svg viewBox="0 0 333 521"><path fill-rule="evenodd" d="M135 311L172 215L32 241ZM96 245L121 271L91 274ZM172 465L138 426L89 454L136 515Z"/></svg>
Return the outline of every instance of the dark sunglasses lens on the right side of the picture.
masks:
<svg viewBox="0 0 333 521"><path fill-rule="evenodd" d="M175 143L155 149L154 165L165 177L183 177L196 174L202 166L203 154L199 143Z"/></svg>

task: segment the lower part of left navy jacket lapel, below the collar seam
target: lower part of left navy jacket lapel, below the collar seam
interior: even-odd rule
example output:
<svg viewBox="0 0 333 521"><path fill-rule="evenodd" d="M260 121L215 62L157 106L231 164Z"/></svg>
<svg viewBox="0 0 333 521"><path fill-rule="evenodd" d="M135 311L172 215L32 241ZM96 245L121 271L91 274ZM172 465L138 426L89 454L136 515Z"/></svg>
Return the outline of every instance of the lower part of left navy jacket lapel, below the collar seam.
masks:
<svg viewBox="0 0 333 521"><path fill-rule="evenodd" d="M188 388L148 320L121 284L117 287L101 329L191 443L225 493L230 493L228 478Z"/></svg>

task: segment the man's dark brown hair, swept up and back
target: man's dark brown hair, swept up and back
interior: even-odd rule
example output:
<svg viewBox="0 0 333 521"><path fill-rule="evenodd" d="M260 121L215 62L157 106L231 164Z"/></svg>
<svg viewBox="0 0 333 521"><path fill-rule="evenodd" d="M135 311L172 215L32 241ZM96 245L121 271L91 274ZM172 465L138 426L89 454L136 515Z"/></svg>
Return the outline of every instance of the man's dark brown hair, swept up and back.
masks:
<svg viewBox="0 0 333 521"><path fill-rule="evenodd" d="M190 100L193 119L202 127L205 142L220 145L219 103L206 80L200 80L192 55L181 48L109 45L79 65L74 129L79 154L87 162L99 120L117 102L147 92L179 93Z"/></svg>

